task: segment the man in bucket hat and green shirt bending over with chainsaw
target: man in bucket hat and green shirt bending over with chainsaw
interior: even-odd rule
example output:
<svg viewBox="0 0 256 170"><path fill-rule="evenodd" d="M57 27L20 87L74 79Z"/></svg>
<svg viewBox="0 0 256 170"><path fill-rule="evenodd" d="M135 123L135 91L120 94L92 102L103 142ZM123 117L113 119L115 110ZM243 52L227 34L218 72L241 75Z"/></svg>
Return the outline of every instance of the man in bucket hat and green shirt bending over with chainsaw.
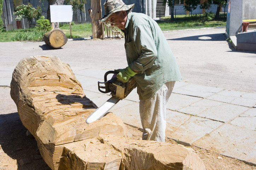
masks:
<svg viewBox="0 0 256 170"><path fill-rule="evenodd" d="M99 21L107 20L124 32L128 67L119 69L117 78L136 80L142 139L165 141L166 105L181 75L158 24L145 14L131 12L133 7L122 0L106 0L106 15Z"/></svg>

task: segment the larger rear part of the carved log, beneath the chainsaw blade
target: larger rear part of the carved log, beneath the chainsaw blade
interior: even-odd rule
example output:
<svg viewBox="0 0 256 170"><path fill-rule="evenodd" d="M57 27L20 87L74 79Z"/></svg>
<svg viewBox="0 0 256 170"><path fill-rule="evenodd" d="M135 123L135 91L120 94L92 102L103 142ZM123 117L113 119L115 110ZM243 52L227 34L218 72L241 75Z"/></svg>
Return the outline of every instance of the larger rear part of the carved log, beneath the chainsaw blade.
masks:
<svg viewBox="0 0 256 170"><path fill-rule="evenodd" d="M22 124L52 169L58 168L65 144L103 133L126 133L122 120L113 113L86 124L97 106L85 96L69 65L54 56L22 59L13 72L11 97Z"/></svg>

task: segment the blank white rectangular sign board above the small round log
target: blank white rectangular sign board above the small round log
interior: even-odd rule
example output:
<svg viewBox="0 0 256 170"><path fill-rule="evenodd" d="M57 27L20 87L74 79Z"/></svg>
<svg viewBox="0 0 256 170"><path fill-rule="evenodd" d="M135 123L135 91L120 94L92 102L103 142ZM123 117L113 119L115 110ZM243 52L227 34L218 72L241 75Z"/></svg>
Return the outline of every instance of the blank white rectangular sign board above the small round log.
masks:
<svg viewBox="0 0 256 170"><path fill-rule="evenodd" d="M71 22L72 5L50 5L51 23Z"/></svg>

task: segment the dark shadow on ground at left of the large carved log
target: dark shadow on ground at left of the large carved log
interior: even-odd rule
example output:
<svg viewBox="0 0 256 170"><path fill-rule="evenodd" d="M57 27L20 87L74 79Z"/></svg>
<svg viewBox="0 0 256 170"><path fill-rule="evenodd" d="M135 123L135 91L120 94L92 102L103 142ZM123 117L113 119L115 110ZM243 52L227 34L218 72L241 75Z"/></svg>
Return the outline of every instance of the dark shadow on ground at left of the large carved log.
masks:
<svg viewBox="0 0 256 170"><path fill-rule="evenodd" d="M32 135L27 137L26 132L17 112L0 114L0 145L9 157L17 160L18 170L50 170L40 155L35 138ZM5 161L4 157L1 159ZM10 166L10 162L6 162L5 168L11 169Z"/></svg>

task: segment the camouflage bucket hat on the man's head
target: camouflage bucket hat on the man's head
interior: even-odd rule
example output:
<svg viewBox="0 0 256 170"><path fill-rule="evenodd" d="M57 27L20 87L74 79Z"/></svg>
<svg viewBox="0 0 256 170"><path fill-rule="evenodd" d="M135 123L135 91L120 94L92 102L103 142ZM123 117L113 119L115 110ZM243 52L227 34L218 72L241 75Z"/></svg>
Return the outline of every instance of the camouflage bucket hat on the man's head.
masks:
<svg viewBox="0 0 256 170"><path fill-rule="evenodd" d="M122 0L106 0L104 3L105 15L99 21L103 22L103 21L107 20L107 18L109 18L109 16L112 13L115 13L118 11L127 11L133 7L134 7L134 4L125 5Z"/></svg>

